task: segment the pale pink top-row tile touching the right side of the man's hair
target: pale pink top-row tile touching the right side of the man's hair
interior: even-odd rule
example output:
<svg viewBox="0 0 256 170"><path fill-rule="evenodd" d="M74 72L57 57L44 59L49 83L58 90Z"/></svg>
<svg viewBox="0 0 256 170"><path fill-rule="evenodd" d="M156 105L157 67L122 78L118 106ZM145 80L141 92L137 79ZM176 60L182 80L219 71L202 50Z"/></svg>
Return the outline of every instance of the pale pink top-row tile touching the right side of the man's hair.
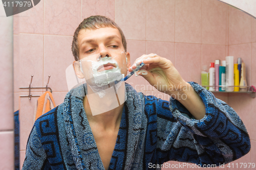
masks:
<svg viewBox="0 0 256 170"><path fill-rule="evenodd" d="M146 0L116 0L115 21L126 39L146 39Z"/></svg>

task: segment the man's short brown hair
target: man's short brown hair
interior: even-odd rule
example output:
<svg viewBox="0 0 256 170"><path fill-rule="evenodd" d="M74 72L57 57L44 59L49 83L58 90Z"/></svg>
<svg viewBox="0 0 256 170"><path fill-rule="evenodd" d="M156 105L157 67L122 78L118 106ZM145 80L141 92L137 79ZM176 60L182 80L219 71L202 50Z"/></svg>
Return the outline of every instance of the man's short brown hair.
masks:
<svg viewBox="0 0 256 170"><path fill-rule="evenodd" d="M80 23L80 25L78 26L78 28L74 33L73 42L72 42L72 53L76 61L79 60L79 45L77 41L79 31L82 29L95 30L103 27L112 27L112 28L118 29L119 33L121 34L124 51L126 52L126 40L120 27L112 19L106 16L95 15L95 16L90 16L88 18L83 19L83 21Z"/></svg>

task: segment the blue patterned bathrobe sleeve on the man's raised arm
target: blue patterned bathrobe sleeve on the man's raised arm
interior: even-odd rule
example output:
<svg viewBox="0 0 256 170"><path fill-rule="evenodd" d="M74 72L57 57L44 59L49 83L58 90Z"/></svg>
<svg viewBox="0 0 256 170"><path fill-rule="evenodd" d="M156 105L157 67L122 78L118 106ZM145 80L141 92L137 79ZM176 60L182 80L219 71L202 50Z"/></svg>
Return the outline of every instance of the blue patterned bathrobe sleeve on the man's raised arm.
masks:
<svg viewBox="0 0 256 170"><path fill-rule="evenodd" d="M202 99L206 115L197 120L177 100L157 99L156 162L175 160L218 166L247 154L250 139L237 113L199 84L189 84Z"/></svg>

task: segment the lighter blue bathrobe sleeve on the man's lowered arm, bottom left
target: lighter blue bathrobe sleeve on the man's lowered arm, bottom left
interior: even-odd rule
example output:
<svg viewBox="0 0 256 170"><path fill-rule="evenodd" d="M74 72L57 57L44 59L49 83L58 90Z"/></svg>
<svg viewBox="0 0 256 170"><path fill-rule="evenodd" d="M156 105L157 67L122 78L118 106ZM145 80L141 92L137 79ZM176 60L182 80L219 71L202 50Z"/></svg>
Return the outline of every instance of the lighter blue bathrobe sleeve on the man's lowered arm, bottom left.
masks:
<svg viewBox="0 0 256 170"><path fill-rule="evenodd" d="M39 135L34 125L28 139L26 156L23 163L23 170L31 169L51 169L45 150L39 139Z"/></svg>

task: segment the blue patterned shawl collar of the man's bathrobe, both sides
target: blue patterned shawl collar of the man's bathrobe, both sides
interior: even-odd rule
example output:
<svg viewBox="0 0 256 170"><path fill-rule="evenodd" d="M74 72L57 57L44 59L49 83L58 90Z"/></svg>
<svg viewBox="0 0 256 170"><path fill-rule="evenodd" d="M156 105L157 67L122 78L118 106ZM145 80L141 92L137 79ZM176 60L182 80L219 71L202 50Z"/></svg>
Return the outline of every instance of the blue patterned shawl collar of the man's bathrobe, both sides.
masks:
<svg viewBox="0 0 256 170"><path fill-rule="evenodd" d="M84 87L80 86L84 91ZM131 169L142 165L143 138L146 130L144 96L125 84L127 100L124 103L120 128L109 169ZM104 169L93 137L83 98L66 95L63 115L71 153L77 169ZM141 153L142 152L142 153ZM121 156L120 156L121 155ZM118 166L118 167L117 167Z"/></svg>

